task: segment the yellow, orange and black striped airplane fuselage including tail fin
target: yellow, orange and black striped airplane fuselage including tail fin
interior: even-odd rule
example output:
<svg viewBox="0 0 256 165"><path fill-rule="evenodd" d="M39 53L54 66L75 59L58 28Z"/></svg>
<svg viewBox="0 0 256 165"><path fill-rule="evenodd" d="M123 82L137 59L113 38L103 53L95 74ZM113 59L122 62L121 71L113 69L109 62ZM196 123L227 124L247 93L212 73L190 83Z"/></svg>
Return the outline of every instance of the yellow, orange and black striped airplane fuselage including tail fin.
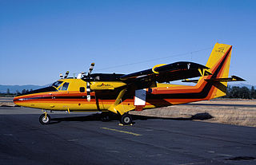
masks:
<svg viewBox="0 0 256 165"><path fill-rule="evenodd" d="M222 44L214 46L206 64L212 75L201 77L195 86L157 84L154 88L146 88L146 104L142 108L165 107L225 96L226 82L206 80L228 77L231 48L230 45ZM69 84L68 88L64 88L65 83ZM85 80L61 79L58 85L50 90L48 88L46 92L39 90L16 96L14 104L54 111L110 111L122 115L136 109L134 90L129 91L126 85L123 81L90 81L91 99L88 101Z"/></svg>

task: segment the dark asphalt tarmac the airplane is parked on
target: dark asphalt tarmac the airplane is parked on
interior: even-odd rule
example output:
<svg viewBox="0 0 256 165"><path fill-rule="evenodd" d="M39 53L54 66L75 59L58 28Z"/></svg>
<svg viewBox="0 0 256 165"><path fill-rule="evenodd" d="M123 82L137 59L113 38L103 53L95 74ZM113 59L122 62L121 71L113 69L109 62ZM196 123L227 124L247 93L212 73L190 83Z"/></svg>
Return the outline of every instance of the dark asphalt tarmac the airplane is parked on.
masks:
<svg viewBox="0 0 256 165"><path fill-rule="evenodd" d="M0 108L0 164L256 164L256 128L134 116L134 125L95 113Z"/></svg>

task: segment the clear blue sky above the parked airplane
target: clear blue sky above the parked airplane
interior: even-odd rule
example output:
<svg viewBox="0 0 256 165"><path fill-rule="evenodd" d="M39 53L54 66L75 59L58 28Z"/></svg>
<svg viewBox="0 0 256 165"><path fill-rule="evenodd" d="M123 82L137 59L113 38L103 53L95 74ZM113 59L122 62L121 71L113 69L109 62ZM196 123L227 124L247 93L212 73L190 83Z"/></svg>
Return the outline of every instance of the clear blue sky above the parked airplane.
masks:
<svg viewBox="0 0 256 165"><path fill-rule="evenodd" d="M94 73L206 65L216 42L234 46L230 75L256 84L255 9L256 1L246 0L1 0L0 84L50 84L91 62Z"/></svg>

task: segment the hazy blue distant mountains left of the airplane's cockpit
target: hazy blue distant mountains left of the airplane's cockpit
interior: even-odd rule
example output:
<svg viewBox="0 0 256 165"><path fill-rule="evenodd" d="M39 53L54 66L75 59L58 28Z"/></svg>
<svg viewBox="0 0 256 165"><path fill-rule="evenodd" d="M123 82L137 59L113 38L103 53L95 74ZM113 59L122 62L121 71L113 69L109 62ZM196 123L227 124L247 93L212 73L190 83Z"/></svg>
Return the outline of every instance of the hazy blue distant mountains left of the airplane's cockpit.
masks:
<svg viewBox="0 0 256 165"><path fill-rule="evenodd" d="M6 93L7 89L9 88L10 93L16 93L17 90L18 90L18 92L22 92L23 89L34 90L34 89L43 88L46 86L48 86L48 85L40 86L40 85L34 85L34 84L26 84L26 85L2 85L2 84L0 84L0 92Z"/></svg>

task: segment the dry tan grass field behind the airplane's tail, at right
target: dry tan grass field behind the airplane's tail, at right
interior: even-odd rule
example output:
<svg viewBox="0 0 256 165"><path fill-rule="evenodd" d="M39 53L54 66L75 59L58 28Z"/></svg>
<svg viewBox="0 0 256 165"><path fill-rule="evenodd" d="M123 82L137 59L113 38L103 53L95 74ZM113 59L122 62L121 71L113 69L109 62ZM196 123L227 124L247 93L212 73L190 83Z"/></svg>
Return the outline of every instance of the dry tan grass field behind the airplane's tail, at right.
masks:
<svg viewBox="0 0 256 165"><path fill-rule="evenodd" d="M225 104L229 104L229 106L225 106ZM240 106L232 106L234 104ZM255 107L243 105L255 105ZM202 120L212 123L256 127L256 100L200 101L192 104L173 105L130 113L142 116L156 116L179 120ZM198 117L198 115L200 116Z"/></svg>

